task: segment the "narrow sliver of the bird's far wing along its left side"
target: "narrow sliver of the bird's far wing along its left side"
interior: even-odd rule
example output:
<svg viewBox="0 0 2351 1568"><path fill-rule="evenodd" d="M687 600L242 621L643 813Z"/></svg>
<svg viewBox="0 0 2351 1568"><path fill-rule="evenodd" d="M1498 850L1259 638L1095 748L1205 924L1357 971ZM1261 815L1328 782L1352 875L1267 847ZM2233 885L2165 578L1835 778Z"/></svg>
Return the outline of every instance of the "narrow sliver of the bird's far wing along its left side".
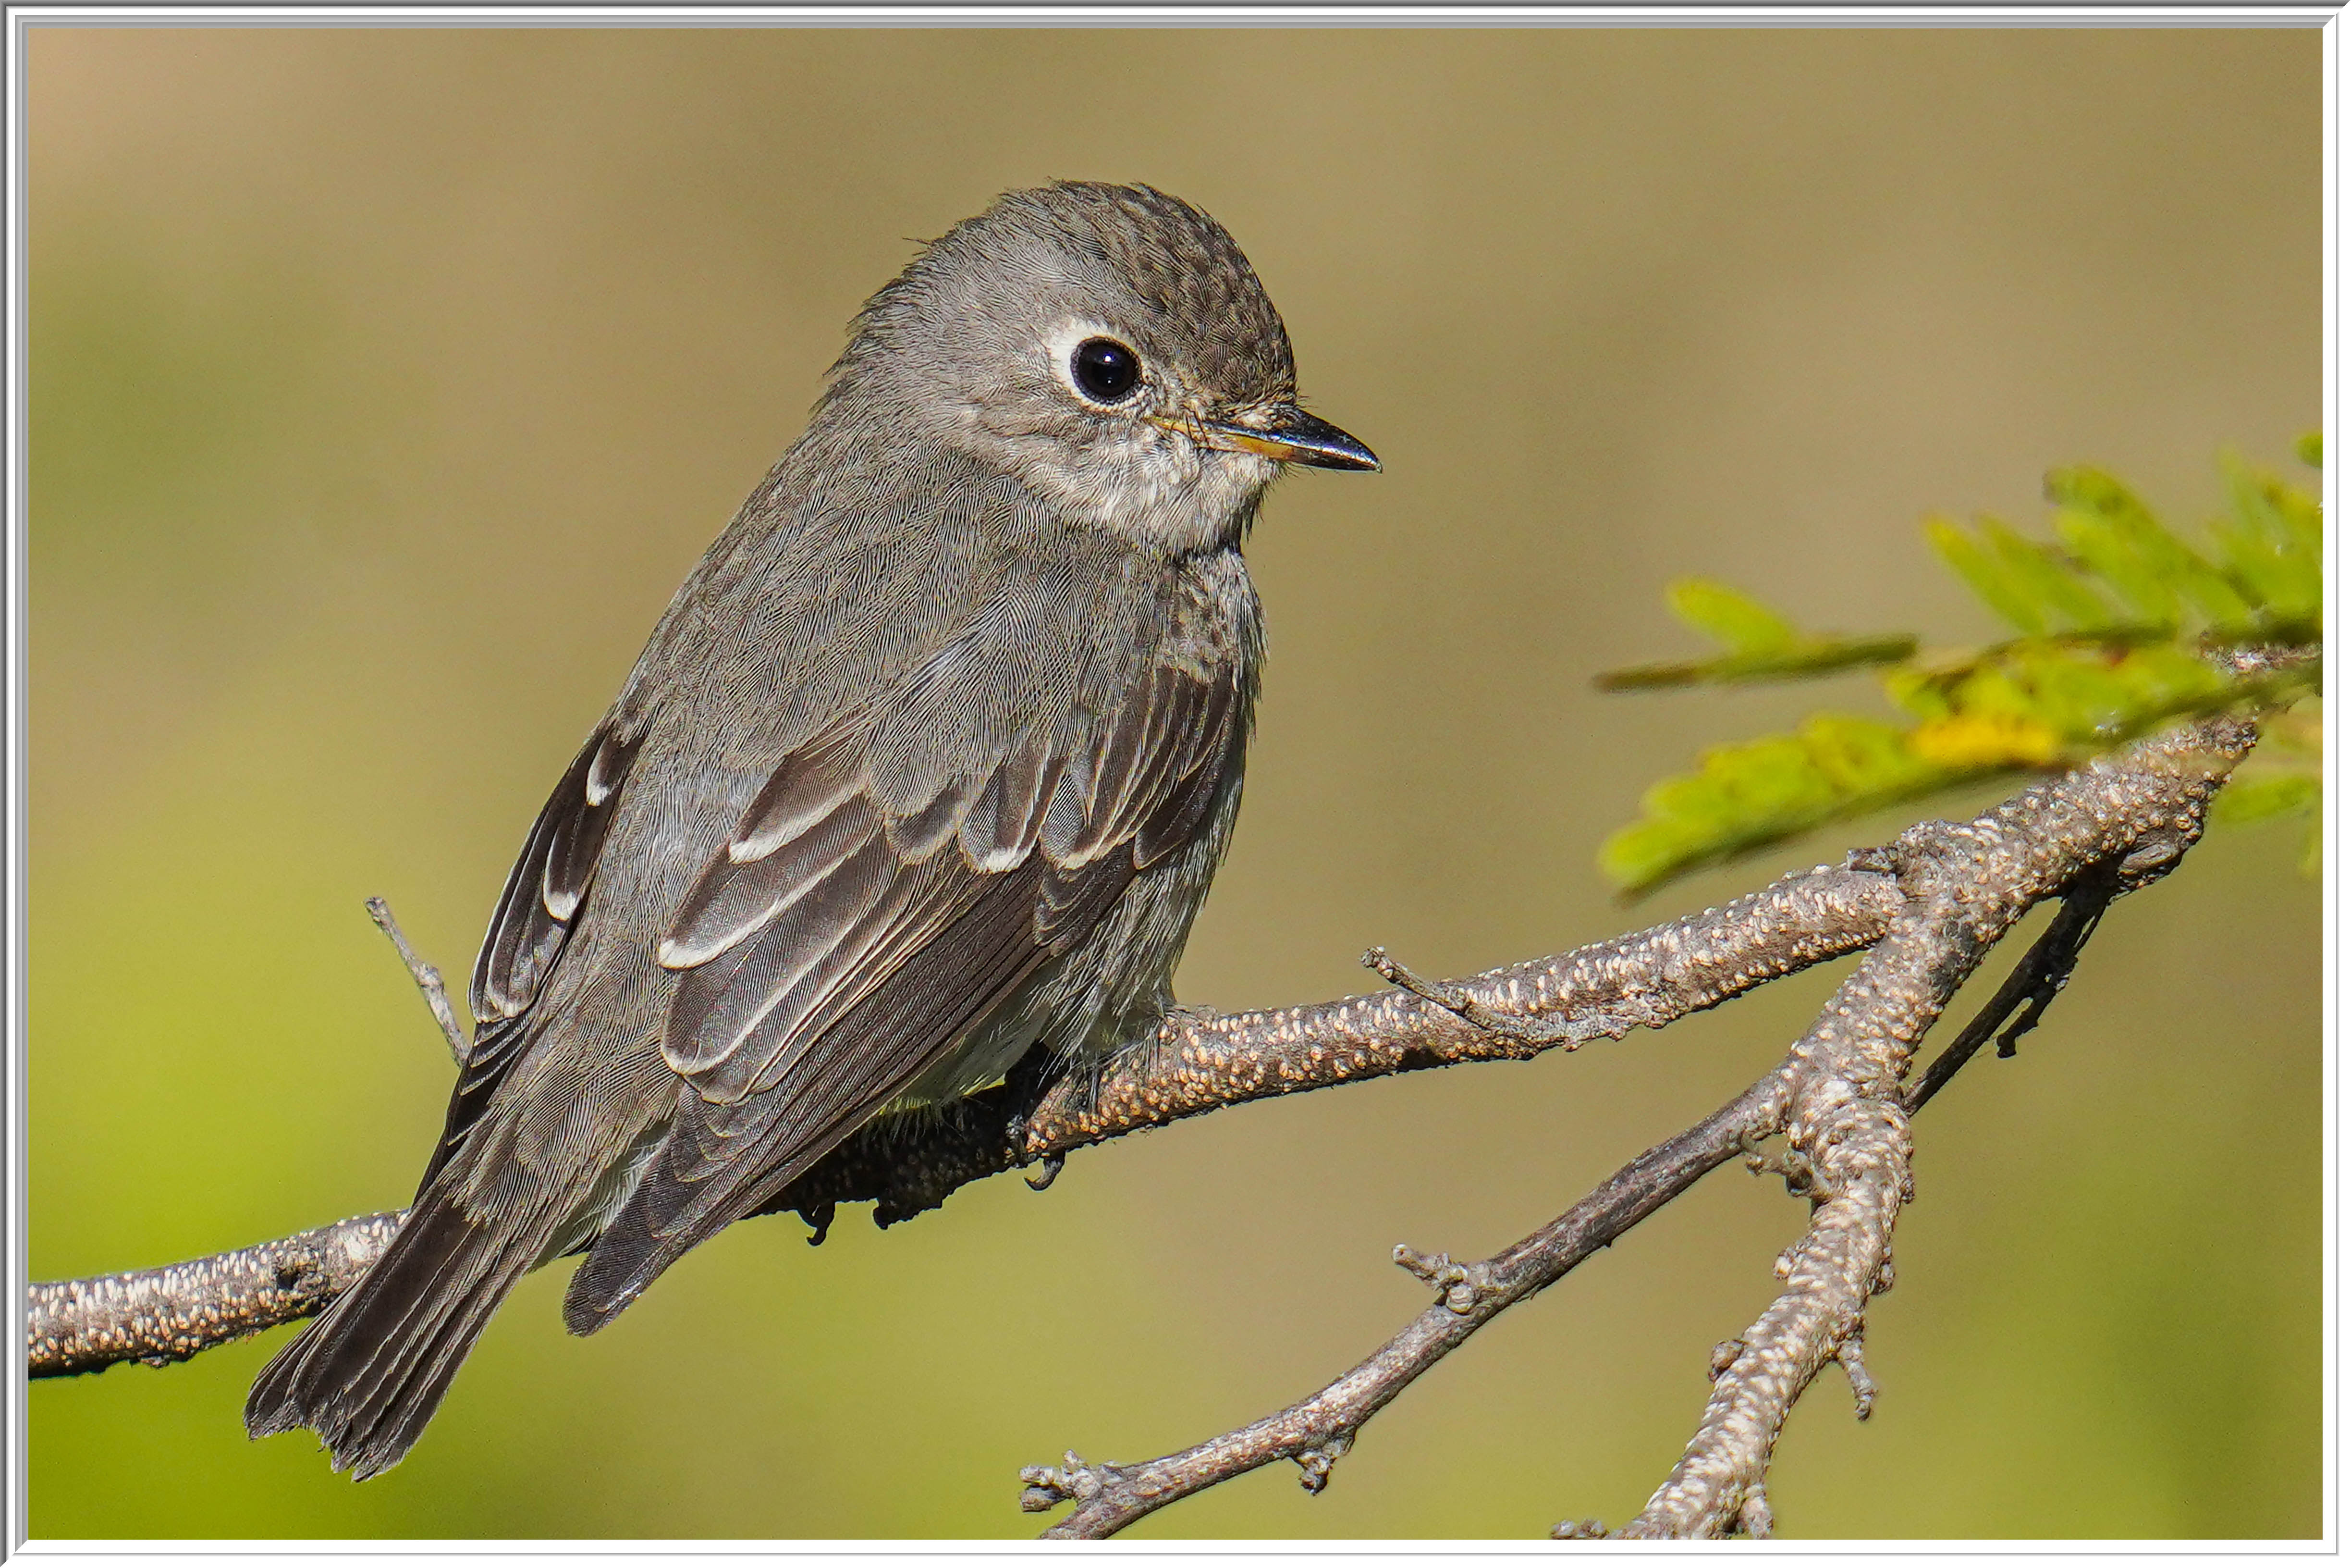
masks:
<svg viewBox="0 0 2351 1568"><path fill-rule="evenodd" d="M522 858L505 875L505 891L498 893L489 936L473 964L473 1041L418 1192L456 1154L520 1056L531 1004L578 924L642 743L642 729L630 733L616 719L600 724L538 809L531 837L522 842Z"/></svg>

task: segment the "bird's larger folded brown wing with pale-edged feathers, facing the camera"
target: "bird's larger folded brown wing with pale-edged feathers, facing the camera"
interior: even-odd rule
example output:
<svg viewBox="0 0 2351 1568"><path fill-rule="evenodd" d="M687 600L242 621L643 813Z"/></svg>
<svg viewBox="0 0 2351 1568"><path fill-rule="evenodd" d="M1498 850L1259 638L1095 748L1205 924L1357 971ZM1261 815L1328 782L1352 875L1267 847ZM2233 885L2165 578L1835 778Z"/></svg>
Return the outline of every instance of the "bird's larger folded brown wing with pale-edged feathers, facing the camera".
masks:
<svg viewBox="0 0 2351 1568"><path fill-rule="evenodd" d="M1152 661L1107 712L1037 712L896 809L870 712L785 757L658 947L686 1088L571 1281L574 1331L820 1159L1190 844L1241 762L1241 682L1237 661Z"/></svg>

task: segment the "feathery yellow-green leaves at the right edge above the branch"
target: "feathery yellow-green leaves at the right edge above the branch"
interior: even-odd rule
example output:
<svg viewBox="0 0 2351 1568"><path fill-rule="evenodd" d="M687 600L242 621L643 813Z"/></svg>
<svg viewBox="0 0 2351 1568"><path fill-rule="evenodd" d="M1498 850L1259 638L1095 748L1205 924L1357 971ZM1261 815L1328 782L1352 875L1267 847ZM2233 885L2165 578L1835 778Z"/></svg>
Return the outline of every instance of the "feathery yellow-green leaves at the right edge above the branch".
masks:
<svg viewBox="0 0 2351 1568"><path fill-rule="evenodd" d="M2311 468L2318 437L2297 442ZM1817 679L1876 668L1895 719L1822 712L1794 733L1721 745L1697 771L1641 797L1641 820L1601 846L1627 896L1700 865L1956 785L2008 785L2074 766L2175 719L2266 710L2273 745L2215 802L2215 820L2311 818L2318 835L2318 661L2236 668L2231 654L2323 642L2318 501L2222 458L2229 512L2203 541L2170 529L2118 480L2059 468L2045 494L2052 541L1994 517L1928 520L1942 562L2015 635L1921 656L1909 635L1843 637L1794 628L1721 583L1688 578L1667 604L1721 644L1712 658L1613 670L1601 689Z"/></svg>

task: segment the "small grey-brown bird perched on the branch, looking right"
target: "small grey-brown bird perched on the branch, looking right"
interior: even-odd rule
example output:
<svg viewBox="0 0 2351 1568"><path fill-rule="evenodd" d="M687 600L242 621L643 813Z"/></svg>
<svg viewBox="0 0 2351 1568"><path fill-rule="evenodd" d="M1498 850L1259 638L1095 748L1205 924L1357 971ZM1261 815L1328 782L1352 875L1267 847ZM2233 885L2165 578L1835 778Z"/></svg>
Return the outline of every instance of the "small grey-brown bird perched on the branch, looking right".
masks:
<svg viewBox="0 0 2351 1568"><path fill-rule="evenodd" d="M1147 1041L1241 799L1241 543L1298 465L1380 461L1204 209L1058 181L922 247L531 825L409 1218L247 1432L381 1474L527 1272L585 1251L595 1333L875 1117Z"/></svg>

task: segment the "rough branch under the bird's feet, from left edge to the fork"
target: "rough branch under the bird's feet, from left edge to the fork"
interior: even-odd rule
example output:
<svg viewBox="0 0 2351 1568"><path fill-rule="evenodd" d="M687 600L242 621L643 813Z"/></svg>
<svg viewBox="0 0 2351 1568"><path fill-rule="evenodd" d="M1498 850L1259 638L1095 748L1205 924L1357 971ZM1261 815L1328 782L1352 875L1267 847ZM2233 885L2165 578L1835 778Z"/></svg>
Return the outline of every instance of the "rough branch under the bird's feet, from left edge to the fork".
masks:
<svg viewBox="0 0 2351 1568"><path fill-rule="evenodd" d="M1622 1039L1867 947L1900 905L1886 872L1817 867L1721 910L1495 969L1451 983L1451 990L1493 1018L1540 1023L1545 1039L1570 1046ZM1178 1013L1150 1046L1105 1070L1100 1086L1084 1074L1046 1081L1046 1063L1027 1060L1006 1084L952 1107L863 1128L759 1213L797 1211L816 1225L813 1239L823 1239L839 1204L872 1201L875 1222L893 1225L938 1208L966 1182L1037 1161L1051 1173L1070 1150L1223 1105L1389 1072L1519 1060L1542 1048L1547 1044L1495 1034L1408 992L1255 1013ZM1032 1110L1023 1114L1023 1107ZM367 1215L167 1269L35 1284L28 1371L54 1378L115 1361L183 1359L310 1316L390 1246L395 1222L397 1215ZM263 1291L259 1281L268 1279L280 1248L299 1244L360 1248L364 1258L353 1251L350 1274L334 1274L317 1288ZM139 1307L115 1312L106 1302L118 1298ZM134 1331L143 1321L158 1326L155 1338ZM216 1324L219 1331L193 1342L181 1324Z"/></svg>

